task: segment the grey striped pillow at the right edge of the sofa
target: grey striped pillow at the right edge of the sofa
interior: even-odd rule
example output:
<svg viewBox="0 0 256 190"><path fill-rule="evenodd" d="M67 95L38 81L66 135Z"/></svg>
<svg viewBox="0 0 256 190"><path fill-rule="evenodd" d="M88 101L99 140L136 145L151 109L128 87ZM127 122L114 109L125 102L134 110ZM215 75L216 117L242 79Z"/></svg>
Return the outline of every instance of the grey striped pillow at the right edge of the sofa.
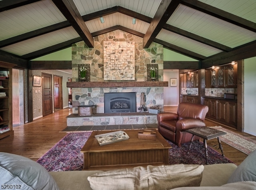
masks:
<svg viewBox="0 0 256 190"><path fill-rule="evenodd" d="M228 183L243 181L256 182L256 150L244 159L228 179Z"/></svg>

